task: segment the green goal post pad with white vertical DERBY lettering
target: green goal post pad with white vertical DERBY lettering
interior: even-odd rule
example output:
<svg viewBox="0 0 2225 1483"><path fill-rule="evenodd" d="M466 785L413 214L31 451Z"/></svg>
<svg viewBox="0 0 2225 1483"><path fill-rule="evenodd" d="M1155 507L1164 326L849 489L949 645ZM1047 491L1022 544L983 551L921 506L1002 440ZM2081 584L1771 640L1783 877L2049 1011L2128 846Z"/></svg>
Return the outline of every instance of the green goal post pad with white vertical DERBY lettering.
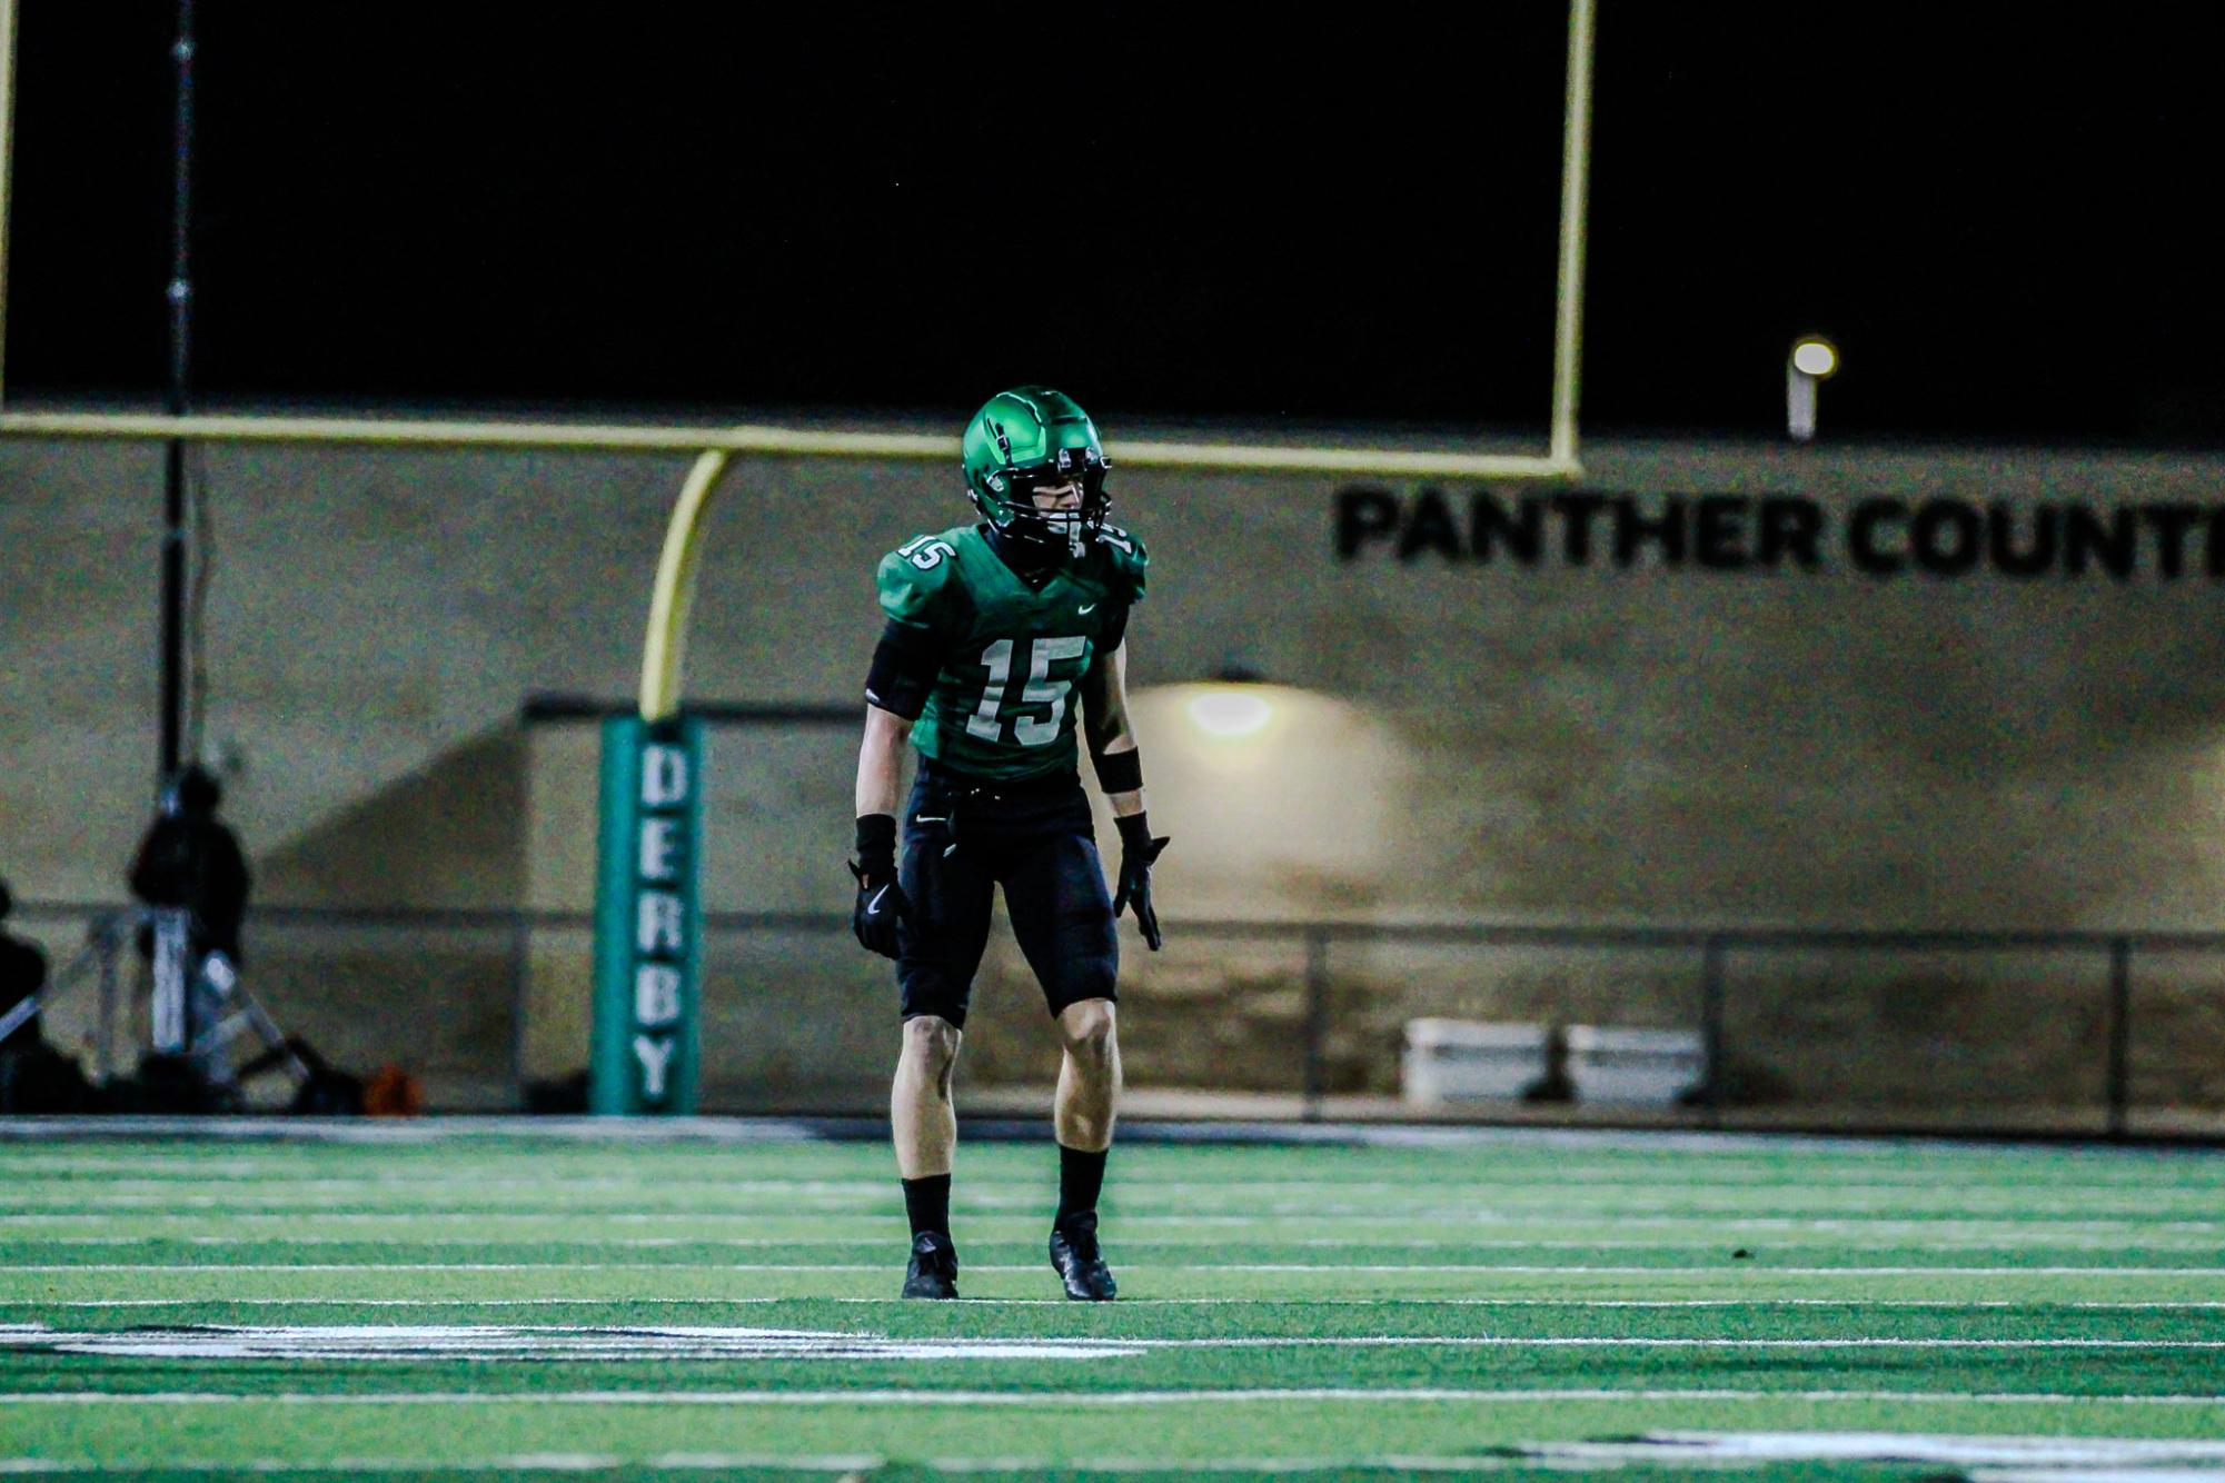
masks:
<svg viewBox="0 0 2225 1483"><path fill-rule="evenodd" d="M603 723L590 1112L694 1112L701 763L694 716Z"/></svg>

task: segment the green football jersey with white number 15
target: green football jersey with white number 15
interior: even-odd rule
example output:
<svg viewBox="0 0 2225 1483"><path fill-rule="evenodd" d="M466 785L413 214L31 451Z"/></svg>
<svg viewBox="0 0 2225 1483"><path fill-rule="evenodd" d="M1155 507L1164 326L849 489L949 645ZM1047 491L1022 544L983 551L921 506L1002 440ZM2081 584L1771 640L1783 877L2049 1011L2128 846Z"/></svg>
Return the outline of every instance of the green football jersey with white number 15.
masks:
<svg viewBox="0 0 2225 1483"><path fill-rule="evenodd" d="M975 525L883 556L881 611L930 634L941 656L912 745L983 778L1075 772L1075 689L1119 645L1148 563L1144 543L1110 525L1041 587Z"/></svg>

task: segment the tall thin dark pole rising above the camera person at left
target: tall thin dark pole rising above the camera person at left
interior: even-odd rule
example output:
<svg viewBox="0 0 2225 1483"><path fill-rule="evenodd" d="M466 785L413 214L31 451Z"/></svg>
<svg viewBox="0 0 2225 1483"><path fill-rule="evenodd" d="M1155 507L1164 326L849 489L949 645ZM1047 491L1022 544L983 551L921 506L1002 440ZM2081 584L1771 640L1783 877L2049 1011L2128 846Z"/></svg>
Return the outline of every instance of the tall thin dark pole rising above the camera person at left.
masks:
<svg viewBox="0 0 2225 1483"><path fill-rule="evenodd" d="M169 196L169 416L194 402L194 0L178 0ZM178 772L185 736L185 440L162 465L162 756L156 785Z"/></svg>

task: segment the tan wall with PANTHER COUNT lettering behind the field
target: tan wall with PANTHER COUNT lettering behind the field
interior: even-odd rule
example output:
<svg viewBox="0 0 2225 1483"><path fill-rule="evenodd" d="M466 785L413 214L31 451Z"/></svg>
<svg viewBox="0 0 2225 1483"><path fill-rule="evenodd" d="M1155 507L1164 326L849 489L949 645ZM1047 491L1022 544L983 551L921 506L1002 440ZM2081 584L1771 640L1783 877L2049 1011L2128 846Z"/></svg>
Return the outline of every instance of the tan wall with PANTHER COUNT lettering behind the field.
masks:
<svg viewBox="0 0 2225 1483"><path fill-rule="evenodd" d="M202 467L207 736L260 898L585 909L592 738L523 729L518 707L632 691L685 460L207 449ZM1146 767L1177 840L1159 885L1170 949L1130 954L1139 1083L1295 1085L1295 943L1186 936L1186 918L2225 929L2207 547L2225 543L2225 465L1631 442L1586 449L1586 471L1651 520L1669 496L1753 502L1702 516L1687 500L1682 558L1655 536L1629 565L1611 507L1582 563L1569 511L1542 509L1524 563L1504 543L1475 558L1466 487L1444 489L1440 525L1411 480L1377 498L1333 478L1119 474L1117 518L1155 558L1130 683L1157 691ZM1348 558L1339 491L1348 536L1384 525ZM1522 489L1489 494L1522 516ZM1771 496L1820 522L1816 569L1798 549L1760 565ZM2176 516L2136 514L2129 576L2074 574L2063 549L2040 576L1987 556L1871 574L1851 540L1878 498L1905 505L1876 522L1878 549L1922 525L1940 567L1994 505L2023 549L2043 509L2058 525L2069 505L2196 514L2178 522L2178 576L2160 569ZM1947 516L1920 516L1929 500ZM158 449L0 445L0 872L18 896L120 894L154 785L158 514ZM941 467L741 467L712 518L690 691L854 703L874 558L961 516ZM1246 743L1197 731L1195 691L1173 689L1230 665L1304 691ZM710 909L846 909L850 763L839 729L714 734ZM396 969L394 943L347 967L305 927L285 952L263 938L276 1007L356 1063L432 1067L456 1101L501 1101L512 1069L583 1054L576 934L538 934L523 969L512 945L458 938L438 952L472 963L438 972ZM708 1023L714 1098L879 1083L883 974L839 934L790 938L714 940L712 992L734 983ZM309 967L278 974L296 949ZM1658 956L1375 947L1333 967L1346 1089L1388 1089L1408 1014L1695 1012L1693 965ZM2096 974L2029 956L1742 961L1733 1049L1780 1101L2087 1105ZM2216 985L2201 958L2158 976L2143 1089L2225 1094ZM1041 1081L1015 961L992 958L981 998L972 1074Z"/></svg>

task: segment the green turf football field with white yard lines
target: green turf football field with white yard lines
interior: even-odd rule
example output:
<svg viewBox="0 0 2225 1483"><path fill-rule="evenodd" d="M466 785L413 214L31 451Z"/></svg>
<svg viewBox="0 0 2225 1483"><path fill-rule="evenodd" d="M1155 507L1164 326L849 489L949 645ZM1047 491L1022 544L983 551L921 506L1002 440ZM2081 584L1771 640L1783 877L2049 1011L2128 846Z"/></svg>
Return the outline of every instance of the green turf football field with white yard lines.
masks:
<svg viewBox="0 0 2225 1483"><path fill-rule="evenodd" d="M9 1132L0 1474L2225 1479L2216 1152L1130 1141L1077 1305L1048 1138L899 1303L879 1143Z"/></svg>

